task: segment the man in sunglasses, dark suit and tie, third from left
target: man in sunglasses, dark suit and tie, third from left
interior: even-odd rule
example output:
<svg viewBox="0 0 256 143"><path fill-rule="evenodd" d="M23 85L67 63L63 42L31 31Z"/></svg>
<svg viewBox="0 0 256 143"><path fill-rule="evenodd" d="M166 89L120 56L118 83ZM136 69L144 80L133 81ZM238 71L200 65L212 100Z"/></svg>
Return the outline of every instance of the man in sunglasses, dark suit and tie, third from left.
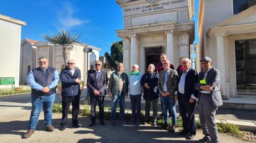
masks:
<svg viewBox="0 0 256 143"><path fill-rule="evenodd" d="M101 70L102 62L97 60L95 62L95 71L89 73L87 77L87 88L90 93L91 102L91 123L89 127L96 123L96 103L99 106L99 124L105 125L104 122L104 97L106 95L105 89L107 88L107 72Z"/></svg>

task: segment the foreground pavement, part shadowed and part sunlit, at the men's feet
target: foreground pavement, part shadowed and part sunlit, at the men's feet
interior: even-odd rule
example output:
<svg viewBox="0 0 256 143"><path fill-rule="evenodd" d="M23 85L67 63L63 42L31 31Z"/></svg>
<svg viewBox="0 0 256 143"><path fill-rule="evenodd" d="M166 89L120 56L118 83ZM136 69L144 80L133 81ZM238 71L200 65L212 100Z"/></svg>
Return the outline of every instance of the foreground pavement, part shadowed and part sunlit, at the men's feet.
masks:
<svg viewBox="0 0 256 143"><path fill-rule="evenodd" d="M79 123L82 128L71 128L71 120L68 121L68 128L65 131L56 129L54 132L44 131L43 114L40 115L40 121L35 133L27 139L21 138L27 130L30 111L22 117L0 120L0 138L1 142L197 142L203 137L202 131L198 131L194 140L188 141L178 135L178 132L170 133L163 131L160 127L150 125L135 124L117 124L110 125L106 122L105 126L96 124L94 127L88 127L90 119L80 117ZM70 116L69 116L70 117ZM61 114L53 114L53 124L59 128ZM247 142L237 137L220 134L221 142Z"/></svg>

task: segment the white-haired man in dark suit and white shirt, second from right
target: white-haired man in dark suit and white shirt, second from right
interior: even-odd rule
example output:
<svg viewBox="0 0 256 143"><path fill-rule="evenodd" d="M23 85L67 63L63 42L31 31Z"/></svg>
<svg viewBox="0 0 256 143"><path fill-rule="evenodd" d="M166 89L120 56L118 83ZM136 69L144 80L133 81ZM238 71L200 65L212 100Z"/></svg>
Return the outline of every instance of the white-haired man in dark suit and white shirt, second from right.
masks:
<svg viewBox="0 0 256 143"><path fill-rule="evenodd" d="M179 112L183 121L183 130L180 135L187 135L187 140L192 140L196 135L195 107L198 91L194 86L198 79L198 73L191 68L191 60L182 60L182 75L178 79L178 90L175 92L175 99L178 99Z"/></svg>

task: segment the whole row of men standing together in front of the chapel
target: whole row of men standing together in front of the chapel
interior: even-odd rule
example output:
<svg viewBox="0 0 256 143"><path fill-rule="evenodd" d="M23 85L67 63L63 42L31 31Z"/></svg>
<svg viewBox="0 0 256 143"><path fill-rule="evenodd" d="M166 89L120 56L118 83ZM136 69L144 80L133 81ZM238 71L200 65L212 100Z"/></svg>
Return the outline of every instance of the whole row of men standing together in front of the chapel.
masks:
<svg viewBox="0 0 256 143"><path fill-rule="evenodd" d="M183 121L183 130L180 135L186 135L191 140L196 135L195 107L199 104L200 123L203 128L204 138L199 142L219 142L215 114L217 107L222 105L220 94L220 74L211 66L211 58L203 57L200 60L203 71L198 73L191 68L191 60L179 59L179 67L174 70L170 60L165 54L161 54L161 63L148 65L148 70L143 75L139 72L137 64L132 66L131 72L124 72L123 63L117 64L117 71L113 72L108 83L107 73L101 70L102 62L95 62L95 70L88 72L87 89L90 95L91 123L96 123L96 104L99 106L99 124L104 122L104 96L108 93L111 97L111 124L116 124L116 106L119 101L121 123L125 120L125 98L129 96L132 105L131 123L141 123L141 96L142 89L145 99L145 124L150 121L150 105L153 106L153 124L157 124L157 102L161 97L163 129L175 132L177 126L177 111L175 102L178 101L179 112ZM172 68L173 69L172 69ZM156 71L157 72L154 72ZM54 131L52 125L52 106L55 99L56 86L62 84L62 122L60 130L66 129L69 106L72 104L72 125L74 128L81 127L78 124L79 97L81 89L81 71L75 67L74 59L69 59L67 66L61 70L60 77L55 68L48 67L46 58L39 58L39 67L33 69L27 77L27 83L31 86L32 111L30 123L24 138L30 137L36 128L40 111L44 108L44 121L46 131ZM108 85L108 91L107 89ZM142 88L141 88L142 87ZM168 112L169 111L169 112ZM168 113L172 118L169 126Z"/></svg>

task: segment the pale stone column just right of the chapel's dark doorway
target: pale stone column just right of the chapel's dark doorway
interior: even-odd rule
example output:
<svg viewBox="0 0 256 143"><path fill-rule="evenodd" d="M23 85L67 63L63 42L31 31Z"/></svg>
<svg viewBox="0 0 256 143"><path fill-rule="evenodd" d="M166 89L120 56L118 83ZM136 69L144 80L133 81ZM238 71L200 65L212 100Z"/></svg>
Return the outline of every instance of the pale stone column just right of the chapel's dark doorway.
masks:
<svg viewBox="0 0 256 143"><path fill-rule="evenodd" d="M166 55L167 59L170 60L171 63L174 62L174 53L173 53L173 30L165 31L166 33Z"/></svg>

